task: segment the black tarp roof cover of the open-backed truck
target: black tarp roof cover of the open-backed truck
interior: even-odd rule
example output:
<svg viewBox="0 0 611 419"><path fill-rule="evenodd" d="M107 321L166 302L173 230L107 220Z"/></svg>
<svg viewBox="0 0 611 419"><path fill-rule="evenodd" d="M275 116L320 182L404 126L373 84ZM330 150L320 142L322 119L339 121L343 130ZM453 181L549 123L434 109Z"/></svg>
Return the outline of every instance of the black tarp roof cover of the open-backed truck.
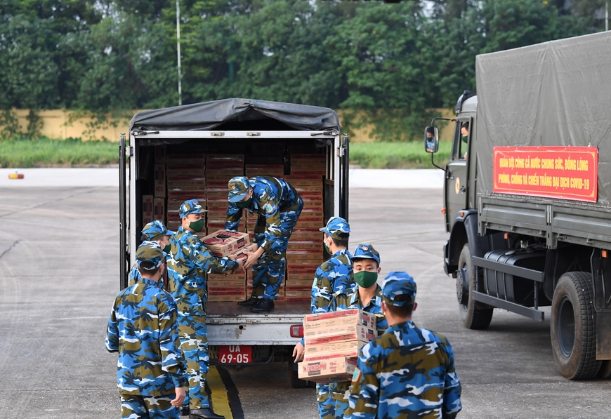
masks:
<svg viewBox="0 0 611 419"><path fill-rule="evenodd" d="M274 119L298 131L339 131L333 109L253 99L223 99L138 112L129 131L209 131L233 121Z"/></svg>

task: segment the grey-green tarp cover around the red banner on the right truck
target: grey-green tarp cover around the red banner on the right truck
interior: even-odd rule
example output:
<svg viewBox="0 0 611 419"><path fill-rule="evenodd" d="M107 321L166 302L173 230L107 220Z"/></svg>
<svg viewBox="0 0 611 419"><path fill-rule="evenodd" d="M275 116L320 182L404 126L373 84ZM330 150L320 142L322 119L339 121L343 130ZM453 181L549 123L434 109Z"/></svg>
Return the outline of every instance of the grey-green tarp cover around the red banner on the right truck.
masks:
<svg viewBox="0 0 611 419"><path fill-rule="evenodd" d="M478 55L475 74L478 195L492 195L494 146L592 146L598 147L598 202L563 205L608 211L611 32ZM504 199L549 201L517 195Z"/></svg>

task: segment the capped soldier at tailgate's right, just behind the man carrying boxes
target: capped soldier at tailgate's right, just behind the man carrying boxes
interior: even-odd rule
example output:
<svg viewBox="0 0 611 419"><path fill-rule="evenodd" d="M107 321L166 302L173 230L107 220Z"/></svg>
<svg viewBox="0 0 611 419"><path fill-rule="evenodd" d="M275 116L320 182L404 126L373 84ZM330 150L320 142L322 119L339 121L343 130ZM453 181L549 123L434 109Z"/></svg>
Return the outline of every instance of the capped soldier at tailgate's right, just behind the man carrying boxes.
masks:
<svg viewBox="0 0 611 419"><path fill-rule="evenodd" d="M314 274L310 301L310 312L312 313L328 312L334 296L349 291L355 285L352 260L348 251L350 224L341 217L332 217L329 218L327 225L319 230L324 233L322 243L331 258L322 262ZM303 359L304 342L302 338L293 350L296 361ZM335 418L329 385L317 384L316 394L320 418Z"/></svg>

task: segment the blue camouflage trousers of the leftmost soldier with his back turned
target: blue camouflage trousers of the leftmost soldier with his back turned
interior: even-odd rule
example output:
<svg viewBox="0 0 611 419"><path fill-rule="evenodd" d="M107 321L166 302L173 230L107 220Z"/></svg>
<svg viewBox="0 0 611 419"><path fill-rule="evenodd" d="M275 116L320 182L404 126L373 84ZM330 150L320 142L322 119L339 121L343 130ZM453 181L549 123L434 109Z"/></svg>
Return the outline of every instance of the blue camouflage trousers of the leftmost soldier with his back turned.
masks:
<svg viewBox="0 0 611 419"><path fill-rule="evenodd" d="M124 419L179 419L180 409L171 405L176 397L145 397L121 394L121 418Z"/></svg>

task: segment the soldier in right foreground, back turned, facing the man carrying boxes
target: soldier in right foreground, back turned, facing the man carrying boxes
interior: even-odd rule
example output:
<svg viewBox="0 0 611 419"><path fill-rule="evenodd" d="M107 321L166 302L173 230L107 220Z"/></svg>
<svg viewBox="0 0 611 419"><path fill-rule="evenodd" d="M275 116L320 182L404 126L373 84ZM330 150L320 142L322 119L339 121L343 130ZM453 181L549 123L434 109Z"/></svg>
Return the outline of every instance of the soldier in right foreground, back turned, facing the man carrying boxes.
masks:
<svg viewBox="0 0 611 419"><path fill-rule="evenodd" d="M407 273L384 279L382 310L390 326L360 350L347 419L451 419L461 411L452 346L414 324L415 298L416 283Z"/></svg>

